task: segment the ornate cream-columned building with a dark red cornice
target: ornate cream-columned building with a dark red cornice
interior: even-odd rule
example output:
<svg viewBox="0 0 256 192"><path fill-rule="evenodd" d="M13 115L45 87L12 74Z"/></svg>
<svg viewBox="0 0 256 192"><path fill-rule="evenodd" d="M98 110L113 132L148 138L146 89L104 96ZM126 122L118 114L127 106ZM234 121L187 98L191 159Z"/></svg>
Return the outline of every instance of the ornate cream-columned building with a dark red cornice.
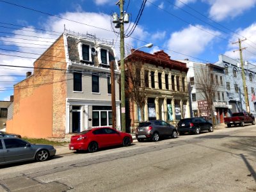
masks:
<svg viewBox="0 0 256 192"><path fill-rule="evenodd" d="M134 51L125 59L126 68L142 62L141 81L145 82L147 96L144 120L164 120L177 124L183 117L190 117L187 72L185 63L171 60L164 51L149 54ZM127 87L128 88L128 87ZM127 98L131 131L141 121L138 105Z"/></svg>

